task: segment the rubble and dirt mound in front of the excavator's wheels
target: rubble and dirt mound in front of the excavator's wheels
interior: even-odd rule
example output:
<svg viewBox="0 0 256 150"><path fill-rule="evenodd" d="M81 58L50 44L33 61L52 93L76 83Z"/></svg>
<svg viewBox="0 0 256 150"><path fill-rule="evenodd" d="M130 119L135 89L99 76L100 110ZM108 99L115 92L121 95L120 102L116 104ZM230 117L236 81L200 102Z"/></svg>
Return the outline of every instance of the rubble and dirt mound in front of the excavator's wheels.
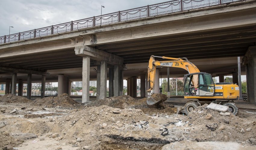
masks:
<svg viewBox="0 0 256 150"><path fill-rule="evenodd" d="M189 113L182 120L193 128L190 135L196 141L246 141L250 144L250 140L255 139L256 122L234 116L232 113L222 113L216 110L206 108L204 104Z"/></svg>

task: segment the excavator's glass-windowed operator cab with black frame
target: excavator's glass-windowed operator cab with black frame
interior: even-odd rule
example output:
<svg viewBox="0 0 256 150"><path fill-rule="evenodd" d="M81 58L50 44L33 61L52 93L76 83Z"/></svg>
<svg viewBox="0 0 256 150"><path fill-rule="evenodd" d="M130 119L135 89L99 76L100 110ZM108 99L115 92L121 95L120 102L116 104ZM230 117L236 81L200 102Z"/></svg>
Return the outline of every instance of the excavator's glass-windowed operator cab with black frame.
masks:
<svg viewBox="0 0 256 150"><path fill-rule="evenodd" d="M184 76L184 95L213 96L214 82L211 74L205 72L190 73Z"/></svg>

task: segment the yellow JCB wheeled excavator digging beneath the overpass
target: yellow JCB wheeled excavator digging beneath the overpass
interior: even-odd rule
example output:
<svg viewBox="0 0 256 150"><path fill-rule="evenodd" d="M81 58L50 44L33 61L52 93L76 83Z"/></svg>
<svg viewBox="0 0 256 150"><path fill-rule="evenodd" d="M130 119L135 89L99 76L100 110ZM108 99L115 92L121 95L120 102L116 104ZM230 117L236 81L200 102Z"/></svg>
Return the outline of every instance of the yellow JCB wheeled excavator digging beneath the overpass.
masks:
<svg viewBox="0 0 256 150"><path fill-rule="evenodd" d="M169 59L167 61L155 61L155 58ZM239 98L239 86L231 82L215 83L211 74L200 72L199 69L188 61L187 58L171 58L159 57L151 55L148 64L148 82L150 88L147 90L147 104L159 104L166 99L156 99L155 93L155 73L157 66L178 67L188 71L189 74L184 75L184 98L194 99L185 104L184 107L178 108L178 112L186 113L193 111L196 107L209 104L211 102L228 106L228 111L237 115L238 107L233 100ZM158 93L158 92L157 92Z"/></svg>

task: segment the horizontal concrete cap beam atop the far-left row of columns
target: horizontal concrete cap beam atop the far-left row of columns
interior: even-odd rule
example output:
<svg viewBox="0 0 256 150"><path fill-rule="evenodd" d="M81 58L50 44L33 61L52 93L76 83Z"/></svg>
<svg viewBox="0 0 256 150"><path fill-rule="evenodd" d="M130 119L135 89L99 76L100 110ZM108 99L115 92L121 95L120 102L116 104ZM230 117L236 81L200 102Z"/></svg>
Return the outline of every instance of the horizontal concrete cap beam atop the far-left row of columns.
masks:
<svg viewBox="0 0 256 150"><path fill-rule="evenodd" d="M37 70L28 70L22 68L11 68L11 67L0 67L0 72L9 72L9 73L30 73L30 74L38 74L38 75L49 75L50 73L45 71L37 71Z"/></svg>

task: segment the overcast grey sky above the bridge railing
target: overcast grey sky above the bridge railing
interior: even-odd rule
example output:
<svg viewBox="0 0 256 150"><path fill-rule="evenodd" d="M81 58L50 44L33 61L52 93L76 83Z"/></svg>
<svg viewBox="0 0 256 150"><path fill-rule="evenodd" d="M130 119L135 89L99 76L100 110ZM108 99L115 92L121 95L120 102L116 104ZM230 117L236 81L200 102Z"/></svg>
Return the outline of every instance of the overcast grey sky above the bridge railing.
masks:
<svg viewBox="0 0 256 150"><path fill-rule="evenodd" d="M0 0L0 36L168 0Z"/></svg>

